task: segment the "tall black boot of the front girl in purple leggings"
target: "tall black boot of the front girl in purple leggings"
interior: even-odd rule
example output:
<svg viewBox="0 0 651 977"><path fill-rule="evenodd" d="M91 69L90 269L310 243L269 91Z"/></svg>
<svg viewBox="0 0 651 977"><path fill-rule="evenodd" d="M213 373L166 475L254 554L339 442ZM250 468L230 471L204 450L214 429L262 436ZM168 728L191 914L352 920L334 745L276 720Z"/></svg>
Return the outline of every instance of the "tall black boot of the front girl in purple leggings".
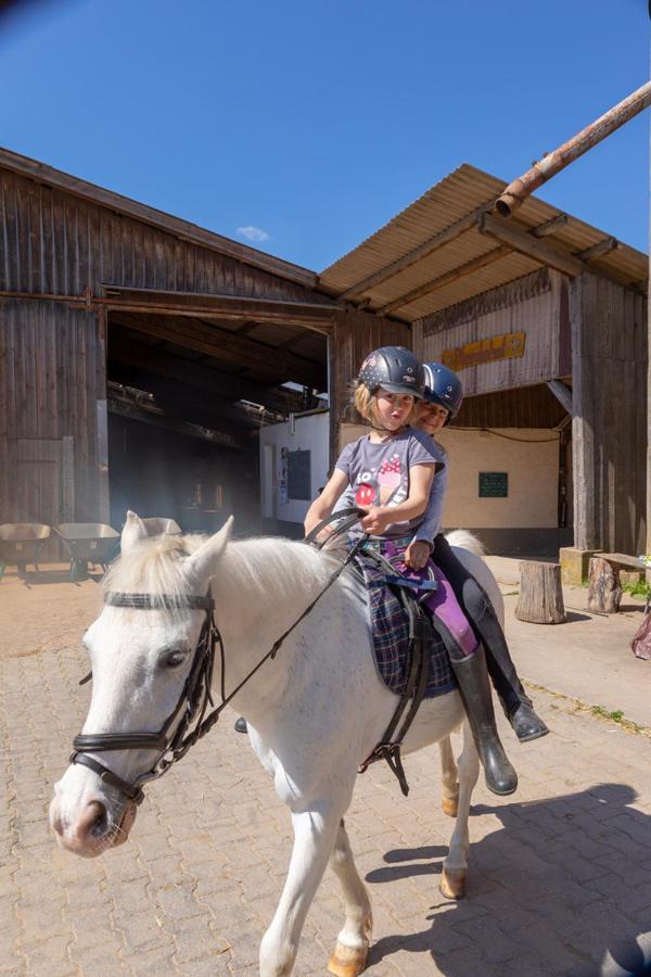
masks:
<svg viewBox="0 0 651 977"><path fill-rule="evenodd" d="M505 752L495 725L484 649L480 645L472 655L450 657L450 664L459 683L470 728L484 767L486 787L493 794L501 796L513 794L518 787L518 774Z"/></svg>

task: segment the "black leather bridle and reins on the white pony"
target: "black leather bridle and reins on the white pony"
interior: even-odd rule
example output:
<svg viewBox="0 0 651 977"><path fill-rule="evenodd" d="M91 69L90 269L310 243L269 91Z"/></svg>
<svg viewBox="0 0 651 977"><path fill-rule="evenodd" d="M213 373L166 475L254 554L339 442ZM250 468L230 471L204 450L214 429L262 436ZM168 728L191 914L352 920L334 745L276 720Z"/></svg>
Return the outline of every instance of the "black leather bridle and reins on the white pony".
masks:
<svg viewBox="0 0 651 977"><path fill-rule="evenodd" d="M335 519L343 519L339 528L339 532L345 532L360 516L359 509L342 509L333 513L329 519L319 523L311 533L308 534L305 542L311 543L316 535L329 522ZM125 797L140 804L144 798L141 784L149 781L155 781L167 773L170 766L186 756L191 746L208 733L221 712L229 705L231 699L246 685L246 683L255 675L268 659L276 658L278 649L292 631L303 621L311 611L315 605L321 599L323 594L332 586L335 580L343 573L345 568L355 558L363 543L366 536L352 547L345 560L333 571L328 579L326 586L319 592L311 604L301 613L294 623L281 634L273 643L269 651L258 661L247 675L239 683L239 685L229 695L226 695L226 660L224 640L217 624L214 620L215 601L208 591L205 597L191 594L188 596L173 597L168 595L155 596L152 594L126 594L119 591L108 591L104 596L104 604L108 607L136 608L139 610L205 610L205 619L199 635L196 648L192 665L177 705L173 712L165 720L165 723L157 733L81 733L73 739L74 752L71 756L71 763L79 763L92 770L98 776L117 788ZM213 672L215 667L215 647L219 645L219 655L221 662L221 701L219 706L213 709L206 715L208 706L215 706L210 690L213 682ZM82 678L80 685L87 682L92 673ZM180 716L180 719L179 719ZM179 719L176 728L170 733L175 721ZM155 750L157 756L148 771L137 776L132 782L118 777L94 757L89 753L101 753L108 750Z"/></svg>

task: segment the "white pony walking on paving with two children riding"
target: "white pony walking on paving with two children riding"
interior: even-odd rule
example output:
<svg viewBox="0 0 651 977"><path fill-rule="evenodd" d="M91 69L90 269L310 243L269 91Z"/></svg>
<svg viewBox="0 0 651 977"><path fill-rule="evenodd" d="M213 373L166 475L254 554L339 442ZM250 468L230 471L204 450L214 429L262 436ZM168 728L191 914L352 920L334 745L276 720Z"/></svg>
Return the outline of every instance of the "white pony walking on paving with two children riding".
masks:
<svg viewBox="0 0 651 977"><path fill-rule="evenodd" d="M227 693L268 652L322 591L335 558L281 538L230 541L230 521L216 535L146 540L129 513L122 557L110 571L110 591L205 595L226 649ZM468 569L487 591L500 619L503 604L493 574L470 547L469 533L449 537ZM462 544L467 548L459 548ZM191 667L205 610L105 606L84 644L92 662L92 701L84 733L158 731L174 712ZM218 659L218 656L217 656ZM220 683L216 661L214 688ZM233 699L250 723L253 749L291 811L294 847L271 925L260 944L263 977L290 974L301 931L326 866L340 879L345 923L329 969L353 977L366 966L371 904L344 827L357 766L382 737L397 698L381 682L371 652L366 593L344 573ZM456 816L442 890L463 894L468 867L468 815L478 759L468 724L455 764L449 734L464 719L456 691L423 701L405 752L439 743L443 807ZM117 777L132 783L152 764L141 749L91 753ZM397 789L397 785L396 785ZM64 848L93 857L124 841L136 805L97 772L72 764L54 787L50 823Z"/></svg>

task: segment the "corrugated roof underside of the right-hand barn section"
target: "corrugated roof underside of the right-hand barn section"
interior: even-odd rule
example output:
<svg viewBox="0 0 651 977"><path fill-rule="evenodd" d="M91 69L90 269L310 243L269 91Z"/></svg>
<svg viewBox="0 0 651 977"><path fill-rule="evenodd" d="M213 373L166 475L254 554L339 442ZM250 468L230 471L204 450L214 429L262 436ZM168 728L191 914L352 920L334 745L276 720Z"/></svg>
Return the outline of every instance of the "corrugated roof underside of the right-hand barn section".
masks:
<svg viewBox="0 0 651 977"><path fill-rule="evenodd" d="M499 252L501 242L482 233L476 221L427 253L426 242L457 221L490 212L506 186L503 180L464 163L327 268L319 277L319 286L354 302L370 300L371 310L395 304L387 313L412 322L536 270L545 262L503 246ZM561 214L557 207L531 196L518 211L516 219L511 219L508 225L528 232ZM567 215L567 218L566 224L541 239L561 255L576 255L609 237L577 217ZM416 254L410 264L397 271L391 268L394 262L416 249L421 253ZM469 264L470 267L464 269ZM649 275L647 255L622 242L614 251L590 261L589 269L624 286L639 287ZM457 271L465 274L456 276ZM367 281L371 276L374 280ZM431 284L436 288L425 291ZM425 293L416 296L412 294L416 290ZM349 291L352 294L347 296L345 293Z"/></svg>

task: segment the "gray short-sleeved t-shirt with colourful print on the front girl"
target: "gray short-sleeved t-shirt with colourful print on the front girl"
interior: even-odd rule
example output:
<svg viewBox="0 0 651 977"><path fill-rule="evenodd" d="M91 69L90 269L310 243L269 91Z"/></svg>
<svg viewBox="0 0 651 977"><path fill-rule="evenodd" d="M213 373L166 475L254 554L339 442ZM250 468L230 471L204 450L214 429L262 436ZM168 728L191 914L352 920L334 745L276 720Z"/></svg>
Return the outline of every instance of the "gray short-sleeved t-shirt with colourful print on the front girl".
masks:
<svg viewBox="0 0 651 977"><path fill-rule="evenodd" d="M409 497L409 469L416 465L436 465L438 457L432 440L422 431L408 429L388 441L374 443L368 434L347 444L335 468L348 477L354 493L353 504L397 506ZM393 522L382 533L384 540L396 540L412 533L423 517ZM360 535L355 526L350 535Z"/></svg>

